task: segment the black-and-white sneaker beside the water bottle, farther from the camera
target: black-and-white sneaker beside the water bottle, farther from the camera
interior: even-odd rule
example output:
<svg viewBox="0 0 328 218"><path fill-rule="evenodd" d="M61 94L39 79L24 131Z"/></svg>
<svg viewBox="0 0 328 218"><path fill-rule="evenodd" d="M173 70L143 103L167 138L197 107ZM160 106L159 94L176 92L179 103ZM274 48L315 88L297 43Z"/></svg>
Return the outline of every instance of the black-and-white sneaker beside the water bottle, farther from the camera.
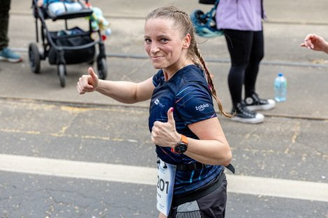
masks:
<svg viewBox="0 0 328 218"><path fill-rule="evenodd" d="M273 109L276 106L276 102L272 99L264 100L258 98L258 94L254 93L252 96L245 98L246 107L250 111L267 111Z"/></svg>

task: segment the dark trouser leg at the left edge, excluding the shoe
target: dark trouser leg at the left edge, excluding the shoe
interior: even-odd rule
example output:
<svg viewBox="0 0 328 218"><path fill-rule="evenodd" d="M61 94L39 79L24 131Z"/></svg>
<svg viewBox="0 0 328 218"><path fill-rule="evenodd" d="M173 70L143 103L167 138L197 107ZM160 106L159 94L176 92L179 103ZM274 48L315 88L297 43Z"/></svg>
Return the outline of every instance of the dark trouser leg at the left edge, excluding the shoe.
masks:
<svg viewBox="0 0 328 218"><path fill-rule="evenodd" d="M10 0L0 0L0 51L8 47L8 23Z"/></svg>

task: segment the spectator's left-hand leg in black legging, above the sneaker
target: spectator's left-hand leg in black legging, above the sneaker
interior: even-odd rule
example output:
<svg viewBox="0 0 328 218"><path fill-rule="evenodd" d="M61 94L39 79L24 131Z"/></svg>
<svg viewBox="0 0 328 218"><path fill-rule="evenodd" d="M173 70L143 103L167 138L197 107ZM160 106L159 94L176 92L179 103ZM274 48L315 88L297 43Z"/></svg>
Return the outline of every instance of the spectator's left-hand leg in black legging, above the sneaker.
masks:
<svg viewBox="0 0 328 218"><path fill-rule="evenodd" d="M241 93L244 84L244 74L250 59L253 33L251 31L225 29L224 34L231 59L228 85L232 104L235 105L242 100Z"/></svg>

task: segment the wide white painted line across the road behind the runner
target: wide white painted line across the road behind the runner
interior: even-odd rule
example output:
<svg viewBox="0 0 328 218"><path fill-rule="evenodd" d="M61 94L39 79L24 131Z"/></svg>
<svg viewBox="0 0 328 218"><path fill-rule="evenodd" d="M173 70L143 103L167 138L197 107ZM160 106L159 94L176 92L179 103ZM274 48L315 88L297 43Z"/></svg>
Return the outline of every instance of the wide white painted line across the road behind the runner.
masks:
<svg viewBox="0 0 328 218"><path fill-rule="evenodd" d="M0 171L156 185L156 168L0 154ZM328 183L234 176L228 192L328 202Z"/></svg>

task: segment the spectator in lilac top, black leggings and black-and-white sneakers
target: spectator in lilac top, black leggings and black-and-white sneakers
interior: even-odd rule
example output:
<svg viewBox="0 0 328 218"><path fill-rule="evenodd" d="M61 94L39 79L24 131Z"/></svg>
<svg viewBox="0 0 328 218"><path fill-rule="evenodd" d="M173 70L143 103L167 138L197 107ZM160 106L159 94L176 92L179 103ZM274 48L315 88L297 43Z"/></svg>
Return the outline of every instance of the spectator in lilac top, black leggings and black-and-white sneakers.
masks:
<svg viewBox="0 0 328 218"><path fill-rule="evenodd" d="M255 111L275 106L274 100L260 99L255 90L264 56L263 18L263 0L220 0L216 9L216 25L223 29L231 59L228 85L235 113L232 120L243 123L262 123L263 114Z"/></svg>

